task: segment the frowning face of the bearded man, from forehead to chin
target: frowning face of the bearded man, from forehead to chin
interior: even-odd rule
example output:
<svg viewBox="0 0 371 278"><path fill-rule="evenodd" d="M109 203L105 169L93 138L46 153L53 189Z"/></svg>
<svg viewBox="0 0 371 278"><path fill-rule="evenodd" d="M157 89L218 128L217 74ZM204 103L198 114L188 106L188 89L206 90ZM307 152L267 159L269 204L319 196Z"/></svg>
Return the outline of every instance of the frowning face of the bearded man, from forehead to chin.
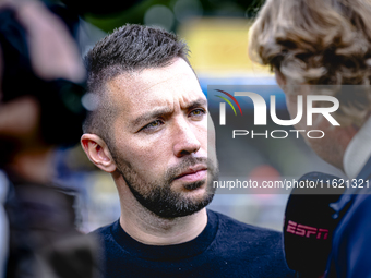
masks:
<svg viewBox="0 0 371 278"><path fill-rule="evenodd" d="M177 59L165 68L119 75L108 90L117 110L110 152L136 200L165 218L206 206L218 172L215 131L188 63Z"/></svg>

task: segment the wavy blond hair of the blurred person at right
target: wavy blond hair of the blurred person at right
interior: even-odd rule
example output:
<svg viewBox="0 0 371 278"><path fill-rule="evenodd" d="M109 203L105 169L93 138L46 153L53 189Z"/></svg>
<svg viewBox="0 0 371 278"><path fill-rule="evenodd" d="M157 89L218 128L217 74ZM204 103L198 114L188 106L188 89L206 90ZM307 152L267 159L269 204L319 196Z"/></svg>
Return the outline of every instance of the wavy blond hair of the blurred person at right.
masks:
<svg viewBox="0 0 371 278"><path fill-rule="evenodd" d="M370 86L371 0L267 0L249 41L251 59L288 84ZM340 101L335 117L361 125L371 111L370 89L339 92L333 90Z"/></svg>

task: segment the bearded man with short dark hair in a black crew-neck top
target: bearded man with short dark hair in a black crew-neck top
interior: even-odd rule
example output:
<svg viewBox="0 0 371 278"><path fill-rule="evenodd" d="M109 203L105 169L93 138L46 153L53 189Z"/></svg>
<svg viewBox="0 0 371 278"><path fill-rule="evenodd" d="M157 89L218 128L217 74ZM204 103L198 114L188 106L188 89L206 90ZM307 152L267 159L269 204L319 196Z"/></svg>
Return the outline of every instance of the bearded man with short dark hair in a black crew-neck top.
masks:
<svg viewBox="0 0 371 278"><path fill-rule="evenodd" d="M187 45L125 25L87 53L82 146L111 173L120 219L99 228L105 277L292 277L280 233L206 210L215 131Z"/></svg>

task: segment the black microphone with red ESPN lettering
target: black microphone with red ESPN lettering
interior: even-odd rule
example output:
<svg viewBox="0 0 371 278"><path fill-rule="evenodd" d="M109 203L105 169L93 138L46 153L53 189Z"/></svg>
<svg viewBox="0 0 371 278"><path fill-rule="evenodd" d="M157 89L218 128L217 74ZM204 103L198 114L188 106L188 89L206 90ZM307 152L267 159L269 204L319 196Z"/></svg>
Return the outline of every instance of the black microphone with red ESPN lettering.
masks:
<svg viewBox="0 0 371 278"><path fill-rule="evenodd" d="M299 181L339 180L321 172L307 173ZM320 184L320 183L319 183ZM291 191L284 222L285 257L289 268L300 277L321 277L332 247L332 235L339 221L333 217L335 203L345 189L300 189ZM309 194L311 193L311 194ZM333 193L333 194L328 194Z"/></svg>

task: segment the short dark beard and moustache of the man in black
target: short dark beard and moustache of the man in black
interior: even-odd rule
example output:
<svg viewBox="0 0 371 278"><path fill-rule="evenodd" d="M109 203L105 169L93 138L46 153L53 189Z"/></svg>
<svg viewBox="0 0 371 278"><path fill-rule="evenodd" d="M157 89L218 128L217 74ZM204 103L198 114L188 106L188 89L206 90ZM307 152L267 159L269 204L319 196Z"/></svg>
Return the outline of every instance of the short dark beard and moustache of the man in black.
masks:
<svg viewBox="0 0 371 278"><path fill-rule="evenodd" d="M205 162L207 162L210 180L206 184L206 194L201 200L192 200L184 195L187 193L173 192L171 190L171 182L184 169L196 164ZM130 165L118 164L118 161L116 165L136 201L161 218L183 217L200 211L212 202L215 194L216 188L213 186L213 181L217 180L218 169L212 160L206 158L184 158L180 165L170 168L165 173L161 182L156 181L151 184L144 184ZM192 191L201 188L204 183L205 180L187 183L184 184L184 189Z"/></svg>

